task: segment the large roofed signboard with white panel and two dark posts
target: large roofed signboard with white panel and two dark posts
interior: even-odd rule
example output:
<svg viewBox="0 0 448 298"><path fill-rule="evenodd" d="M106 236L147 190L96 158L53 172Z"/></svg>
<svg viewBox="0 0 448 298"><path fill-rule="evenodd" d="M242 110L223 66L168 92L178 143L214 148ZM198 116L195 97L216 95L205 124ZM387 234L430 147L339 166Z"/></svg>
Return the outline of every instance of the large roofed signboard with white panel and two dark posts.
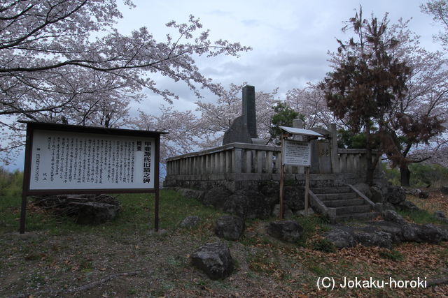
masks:
<svg viewBox="0 0 448 298"><path fill-rule="evenodd" d="M158 131L27 124L20 233L28 195L155 193L159 228Z"/></svg>

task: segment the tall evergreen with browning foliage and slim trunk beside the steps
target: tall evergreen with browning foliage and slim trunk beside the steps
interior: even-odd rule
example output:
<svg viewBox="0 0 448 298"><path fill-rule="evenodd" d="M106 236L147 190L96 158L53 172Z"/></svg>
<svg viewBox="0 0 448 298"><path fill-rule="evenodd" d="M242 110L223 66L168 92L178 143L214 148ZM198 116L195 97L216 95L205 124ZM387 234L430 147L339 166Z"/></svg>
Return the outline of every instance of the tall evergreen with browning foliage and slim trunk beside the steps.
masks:
<svg viewBox="0 0 448 298"><path fill-rule="evenodd" d="M379 155L372 158L372 136L377 126L379 135L386 135L386 112L394 100L405 96L409 67L389 54L398 40L386 37L388 20L363 19L362 8L342 30L353 29L355 38L339 43L339 56L334 70L327 74L321 87L328 107L338 119L346 119L354 131L365 133L368 184L373 182Z"/></svg>

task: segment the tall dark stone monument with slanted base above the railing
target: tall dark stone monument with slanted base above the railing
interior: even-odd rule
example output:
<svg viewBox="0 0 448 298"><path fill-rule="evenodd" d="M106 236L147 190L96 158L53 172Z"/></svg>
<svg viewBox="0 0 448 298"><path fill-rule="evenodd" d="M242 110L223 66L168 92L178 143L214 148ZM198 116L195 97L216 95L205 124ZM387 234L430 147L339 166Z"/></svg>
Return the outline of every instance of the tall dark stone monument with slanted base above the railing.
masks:
<svg viewBox="0 0 448 298"><path fill-rule="evenodd" d="M224 133L223 145L229 143L264 144L257 135L257 116L255 114L255 87L243 88L243 113L237 117Z"/></svg>

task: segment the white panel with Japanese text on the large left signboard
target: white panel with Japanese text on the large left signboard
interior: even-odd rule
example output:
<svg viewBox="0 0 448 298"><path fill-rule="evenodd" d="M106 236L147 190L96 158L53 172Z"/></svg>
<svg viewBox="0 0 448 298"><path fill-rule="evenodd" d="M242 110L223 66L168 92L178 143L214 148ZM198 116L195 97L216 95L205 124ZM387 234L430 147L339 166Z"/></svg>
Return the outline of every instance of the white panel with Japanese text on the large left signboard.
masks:
<svg viewBox="0 0 448 298"><path fill-rule="evenodd" d="M34 130L30 190L154 188L151 137Z"/></svg>

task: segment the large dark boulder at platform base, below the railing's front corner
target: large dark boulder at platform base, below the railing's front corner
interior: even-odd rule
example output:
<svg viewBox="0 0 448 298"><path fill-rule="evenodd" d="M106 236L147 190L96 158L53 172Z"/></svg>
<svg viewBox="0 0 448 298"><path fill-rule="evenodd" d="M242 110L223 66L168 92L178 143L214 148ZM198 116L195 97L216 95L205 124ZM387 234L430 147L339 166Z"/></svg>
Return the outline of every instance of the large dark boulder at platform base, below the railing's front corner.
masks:
<svg viewBox="0 0 448 298"><path fill-rule="evenodd" d="M271 206L265 195L242 189L230 195L223 210L242 218L268 218L271 214Z"/></svg>

